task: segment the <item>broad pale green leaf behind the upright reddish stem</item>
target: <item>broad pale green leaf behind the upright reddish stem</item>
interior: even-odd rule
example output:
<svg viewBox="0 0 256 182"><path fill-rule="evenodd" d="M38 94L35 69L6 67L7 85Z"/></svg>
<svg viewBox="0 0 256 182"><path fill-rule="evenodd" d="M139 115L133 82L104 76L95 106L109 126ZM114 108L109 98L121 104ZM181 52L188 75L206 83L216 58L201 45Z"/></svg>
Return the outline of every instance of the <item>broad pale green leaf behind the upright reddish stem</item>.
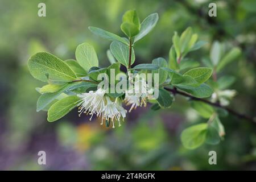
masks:
<svg viewBox="0 0 256 182"><path fill-rule="evenodd" d="M110 51L112 52L115 59L121 64L128 67L129 65L129 47L120 42L114 41L110 44ZM131 64L135 61L134 49L131 50Z"/></svg>

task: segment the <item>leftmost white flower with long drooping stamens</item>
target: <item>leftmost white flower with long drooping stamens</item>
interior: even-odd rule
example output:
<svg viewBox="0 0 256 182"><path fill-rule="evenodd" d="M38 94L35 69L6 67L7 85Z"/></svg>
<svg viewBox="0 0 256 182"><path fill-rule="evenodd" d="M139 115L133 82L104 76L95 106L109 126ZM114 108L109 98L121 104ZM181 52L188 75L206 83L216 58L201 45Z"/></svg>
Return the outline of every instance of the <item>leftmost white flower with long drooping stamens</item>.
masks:
<svg viewBox="0 0 256 182"><path fill-rule="evenodd" d="M82 113L87 113L92 115L90 121L94 114L97 117L102 116L102 112L105 109L104 95L106 91L103 89L98 89L96 91L90 91L89 93L77 94L81 98L81 102L78 104L79 107L79 116Z"/></svg>

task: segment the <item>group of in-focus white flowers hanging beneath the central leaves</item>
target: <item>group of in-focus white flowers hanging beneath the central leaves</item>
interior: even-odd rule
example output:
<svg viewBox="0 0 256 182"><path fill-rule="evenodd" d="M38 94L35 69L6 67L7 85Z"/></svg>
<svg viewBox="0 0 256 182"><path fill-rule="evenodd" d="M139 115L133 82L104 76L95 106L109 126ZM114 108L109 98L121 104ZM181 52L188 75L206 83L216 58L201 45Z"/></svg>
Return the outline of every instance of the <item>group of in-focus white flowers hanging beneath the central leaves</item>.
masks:
<svg viewBox="0 0 256 182"><path fill-rule="evenodd" d="M131 105L130 110L136 109L138 106L146 106L147 98L152 94L152 89L148 90L148 85L146 81L139 80L139 82L134 82L134 87L132 89L126 90L125 99L123 100L126 105ZM126 117L127 110L122 107L121 98L110 98L106 94L106 90L99 88L96 91L90 91L88 93L77 94L81 98L79 102L79 116L82 113L91 115L90 120L93 115L101 117L101 125L103 125L104 120L106 123L112 122L112 127L114 128L114 122L118 121L118 126L121 126L120 119Z"/></svg>

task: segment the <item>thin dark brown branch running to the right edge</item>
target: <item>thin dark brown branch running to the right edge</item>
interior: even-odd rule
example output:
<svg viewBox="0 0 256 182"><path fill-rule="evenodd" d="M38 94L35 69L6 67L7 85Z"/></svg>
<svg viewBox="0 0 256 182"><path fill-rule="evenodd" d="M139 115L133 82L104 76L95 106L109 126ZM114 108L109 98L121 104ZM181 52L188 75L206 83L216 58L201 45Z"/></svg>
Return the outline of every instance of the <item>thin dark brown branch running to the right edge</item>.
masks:
<svg viewBox="0 0 256 182"><path fill-rule="evenodd" d="M214 106L214 107L219 107L219 108L222 108L222 109L225 109L226 111L228 111L230 114L233 114L235 115L236 117L238 118L241 118L241 119L247 119L248 121L251 121L251 122L254 122L255 123L255 119L253 117L249 117L248 115L245 115L245 114L241 114L241 113L238 113L237 111L233 110L233 109L230 109L229 107L225 107L225 106L222 106L220 103L218 102L210 102L208 100L205 100L203 98L197 98L197 97L193 97L185 92L181 92L179 90L177 90L176 88L174 89L171 89L171 88L164 88L166 90L168 90L169 92L172 92L173 94L179 94L181 96L184 96L184 97L188 97L189 99L191 100L194 100L194 101L201 101L201 102L204 102L206 104L209 104L211 106Z"/></svg>

